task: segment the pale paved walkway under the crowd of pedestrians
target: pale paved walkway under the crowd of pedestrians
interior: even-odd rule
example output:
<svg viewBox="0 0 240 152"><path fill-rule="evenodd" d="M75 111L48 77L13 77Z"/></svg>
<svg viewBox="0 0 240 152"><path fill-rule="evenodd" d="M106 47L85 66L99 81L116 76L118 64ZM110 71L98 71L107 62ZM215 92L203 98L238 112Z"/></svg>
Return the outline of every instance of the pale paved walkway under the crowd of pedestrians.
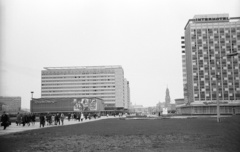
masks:
<svg viewBox="0 0 240 152"><path fill-rule="evenodd" d="M83 121L78 121L78 120L70 120L68 121L67 119L64 120L64 124L63 125L46 125L47 123L45 123L44 128L48 128L48 127L61 127L61 126L66 126L66 125L73 125L73 124L81 124L81 123L87 123L87 122L92 122L92 121L98 121L98 120L103 120L103 119L110 119L110 118L118 118L118 117L114 117L114 116L101 116L100 118L92 118L92 119L87 119L87 120L83 120ZM27 131L27 130L34 130L34 129L42 129L43 127L40 128L40 124L39 122L36 122L35 125L30 124L30 126L28 126L27 124L23 127L21 126L17 126L17 124L15 122L12 122L12 124L7 127L5 130L3 130L3 127L0 127L0 136L1 135L6 135L6 134L10 134L10 133L16 133L16 132L23 132L23 131Z"/></svg>

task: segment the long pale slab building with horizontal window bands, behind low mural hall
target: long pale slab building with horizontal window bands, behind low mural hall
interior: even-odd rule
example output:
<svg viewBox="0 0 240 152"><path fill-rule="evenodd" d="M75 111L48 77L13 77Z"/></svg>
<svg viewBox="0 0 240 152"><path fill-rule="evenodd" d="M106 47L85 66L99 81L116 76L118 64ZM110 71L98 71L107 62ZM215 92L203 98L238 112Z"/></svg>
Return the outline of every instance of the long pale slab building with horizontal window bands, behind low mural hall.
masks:
<svg viewBox="0 0 240 152"><path fill-rule="evenodd" d="M106 107L128 108L125 81L121 66L45 67L41 97L98 97Z"/></svg>

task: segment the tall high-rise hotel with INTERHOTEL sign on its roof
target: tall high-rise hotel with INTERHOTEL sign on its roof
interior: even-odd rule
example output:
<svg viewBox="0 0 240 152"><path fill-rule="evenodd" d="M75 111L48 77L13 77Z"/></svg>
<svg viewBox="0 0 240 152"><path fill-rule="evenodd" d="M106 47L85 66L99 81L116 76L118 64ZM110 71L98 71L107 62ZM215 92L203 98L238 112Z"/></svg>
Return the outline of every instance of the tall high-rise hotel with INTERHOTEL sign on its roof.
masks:
<svg viewBox="0 0 240 152"><path fill-rule="evenodd" d="M240 17L195 15L185 26L183 66L189 103L240 103ZM185 84L184 84L185 85ZM218 89L218 91L217 91Z"/></svg>

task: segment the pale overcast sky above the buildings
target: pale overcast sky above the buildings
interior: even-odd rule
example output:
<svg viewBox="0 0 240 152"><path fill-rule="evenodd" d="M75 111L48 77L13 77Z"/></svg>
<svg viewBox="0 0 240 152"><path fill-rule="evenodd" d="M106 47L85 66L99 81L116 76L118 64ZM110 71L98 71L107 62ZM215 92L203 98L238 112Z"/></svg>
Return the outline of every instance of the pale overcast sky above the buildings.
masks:
<svg viewBox="0 0 240 152"><path fill-rule="evenodd" d="M131 102L183 98L181 36L196 14L240 17L239 0L0 0L0 96L41 97L43 67L121 65Z"/></svg>

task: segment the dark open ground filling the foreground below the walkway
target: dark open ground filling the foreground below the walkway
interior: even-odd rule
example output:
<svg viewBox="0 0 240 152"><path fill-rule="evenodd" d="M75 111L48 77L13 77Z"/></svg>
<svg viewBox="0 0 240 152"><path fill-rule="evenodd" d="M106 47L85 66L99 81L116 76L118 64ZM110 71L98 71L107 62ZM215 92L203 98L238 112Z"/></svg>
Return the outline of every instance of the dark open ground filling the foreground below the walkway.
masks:
<svg viewBox="0 0 240 152"><path fill-rule="evenodd" d="M0 136L1 151L239 151L240 116L105 119Z"/></svg>

